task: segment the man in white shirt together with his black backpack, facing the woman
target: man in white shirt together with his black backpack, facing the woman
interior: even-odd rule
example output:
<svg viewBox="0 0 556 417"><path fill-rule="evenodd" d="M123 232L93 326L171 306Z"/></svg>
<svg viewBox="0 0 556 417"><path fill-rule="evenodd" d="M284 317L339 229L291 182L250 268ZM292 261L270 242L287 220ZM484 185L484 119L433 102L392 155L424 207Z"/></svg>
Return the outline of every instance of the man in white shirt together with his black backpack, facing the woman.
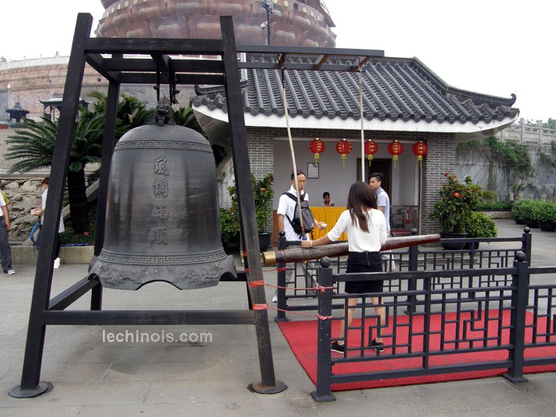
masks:
<svg viewBox="0 0 556 417"><path fill-rule="evenodd" d="M300 200L302 207L302 220L304 227L304 234L300 229L299 209L297 208L297 191L295 190L295 180L297 180L297 188L300 190ZM302 170L297 170L297 176L292 172L291 174L291 187L287 193L280 196L278 202L278 227L279 231L286 232L286 240L305 240L309 238L309 232L316 227L319 230L325 229L326 224L318 222L313 218L313 213L309 209L309 195L305 193L304 188L306 184L305 174ZM306 270L306 263L302 263L302 270L305 275L306 288L313 288L316 284L316 276L311 275ZM295 264L288 263L286 265L286 282L291 281L293 275L293 268ZM286 284L287 286L288 284ZM278 290L275 291L272 302L278 301ZM308 291L310 295L316 295L316 291Z"/></svg>

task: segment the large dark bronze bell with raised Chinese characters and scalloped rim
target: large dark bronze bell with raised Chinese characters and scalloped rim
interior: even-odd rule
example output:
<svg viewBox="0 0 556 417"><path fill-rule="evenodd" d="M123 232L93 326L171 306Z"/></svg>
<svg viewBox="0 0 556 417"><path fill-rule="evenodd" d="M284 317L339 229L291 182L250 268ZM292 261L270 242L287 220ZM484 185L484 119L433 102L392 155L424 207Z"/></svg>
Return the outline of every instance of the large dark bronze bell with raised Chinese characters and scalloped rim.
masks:
<svg viewBox="0 0 556 417"><path fill-rule="evenodd" d="M114 150L104 247L91 268L106 288L204 288L236 276L220 239L211 145L162 118L129 131Z"/></svg>

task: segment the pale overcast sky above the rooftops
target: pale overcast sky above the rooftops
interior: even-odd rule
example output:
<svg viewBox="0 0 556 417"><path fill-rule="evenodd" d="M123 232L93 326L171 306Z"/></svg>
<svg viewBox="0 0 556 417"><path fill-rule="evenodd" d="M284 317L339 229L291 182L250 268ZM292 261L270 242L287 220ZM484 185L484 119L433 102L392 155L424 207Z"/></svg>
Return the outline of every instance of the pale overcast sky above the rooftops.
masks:
<svg viewBox="0 0 556 417"><path fill-rule="evenodd" d="M100 0L4 1L0 56L69 55L75 18ZM556 2L541 0L325 0L336 46L419 58L456 88L510 97L530 120L556 118Z"/></svg>

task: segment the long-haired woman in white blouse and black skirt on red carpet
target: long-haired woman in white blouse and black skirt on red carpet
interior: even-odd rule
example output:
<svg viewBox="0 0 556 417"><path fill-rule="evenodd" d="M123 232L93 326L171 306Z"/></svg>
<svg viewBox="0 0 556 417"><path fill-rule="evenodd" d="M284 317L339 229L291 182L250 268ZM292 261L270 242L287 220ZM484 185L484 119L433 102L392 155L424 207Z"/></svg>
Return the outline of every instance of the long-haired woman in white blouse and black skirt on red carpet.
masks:
<svg viewBox="0 0 556 417"><path fill-rule="evenodd" d="M347 210L341 213L334 228L325 236L317 240L303 240L304 248L326 245L338 240L343 232L347 234L349 255L347 256L347 269L345 272L382 272L380 247L386 242L386 220L382 211L377 210L377 199L368 183L358 182L352 184L347 196ZM379 293L382 291L381 281L347 281L345 292L357 293ZM378 297L370 299L375 304L375 313L380 318L380 325L386 323L386 311L384 307L377 307ZM347 305L347 327L353 321L354 306L357 298L348 298ZM340 337L344 340L334 341L331 348L336 352L344 352L345 347L345 322L340 325ZM371 342L371 347L383 350L382 337L377 336Z"/></svg>

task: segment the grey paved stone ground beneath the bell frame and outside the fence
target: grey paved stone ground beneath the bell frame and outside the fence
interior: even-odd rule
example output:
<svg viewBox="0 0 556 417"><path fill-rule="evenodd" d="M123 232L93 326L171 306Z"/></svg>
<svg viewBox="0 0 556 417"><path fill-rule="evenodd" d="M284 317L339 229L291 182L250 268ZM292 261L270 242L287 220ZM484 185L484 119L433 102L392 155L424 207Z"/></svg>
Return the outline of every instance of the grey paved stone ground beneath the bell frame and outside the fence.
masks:
<svg viewBox="0 0 556 417"><path fill-rule="evenodd" d="M520 236L523 227L498 220L500 236ZM533 264L554 265L556 233L533 231ZM529 375L514 385L502 377L335 393L317 403L315 389L272 320L272 352L278 379L288 389L276 395L247 390L258 380L254 328L215 326L50 326L42 381L52 391L17 400L34 265L14 265L17 275L0 276L0 416L554 416L556 373ZM86 265L54 272L52 294L80 279ZM274 282L275 272L265 274ZM270 300L272 288L268 288ZM70 307L87 309L88 297ZM104 291L104 309L247 309L245 286L177 291L150 284L140 291ZM211 343L109 343L109 332L210 332ZM104 337L104 340L103 340Z"/></svg>

